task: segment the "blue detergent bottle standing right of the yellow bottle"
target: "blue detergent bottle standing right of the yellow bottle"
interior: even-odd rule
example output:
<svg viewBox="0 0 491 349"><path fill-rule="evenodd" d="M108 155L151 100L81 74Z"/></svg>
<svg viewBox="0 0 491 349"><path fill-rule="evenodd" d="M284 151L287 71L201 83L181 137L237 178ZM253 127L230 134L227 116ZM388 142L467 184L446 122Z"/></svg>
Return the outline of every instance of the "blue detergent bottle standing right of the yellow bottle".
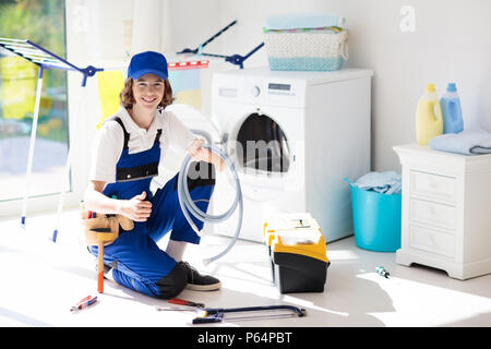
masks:
<svg viewBox="0 0 491 349"><path fill-rule="evenodd" d="M460 98L455 83L448 83L446 93L440 99L443 117L443 133L459 133L464 130Z"/></svg>

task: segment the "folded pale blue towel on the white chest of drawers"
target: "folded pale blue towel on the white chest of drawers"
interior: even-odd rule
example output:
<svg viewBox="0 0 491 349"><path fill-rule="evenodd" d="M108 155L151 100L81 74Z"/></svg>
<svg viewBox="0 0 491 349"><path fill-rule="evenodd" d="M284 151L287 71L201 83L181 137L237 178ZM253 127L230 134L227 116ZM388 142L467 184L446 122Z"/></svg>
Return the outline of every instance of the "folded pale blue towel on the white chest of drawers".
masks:
<svg viewBox="0 0 491 349"><path fill-rule="evenodd" d="M465 155L490 154L491 133L484 130L468 130L460 133L445 133L430 141L435 151Z"/></svg>

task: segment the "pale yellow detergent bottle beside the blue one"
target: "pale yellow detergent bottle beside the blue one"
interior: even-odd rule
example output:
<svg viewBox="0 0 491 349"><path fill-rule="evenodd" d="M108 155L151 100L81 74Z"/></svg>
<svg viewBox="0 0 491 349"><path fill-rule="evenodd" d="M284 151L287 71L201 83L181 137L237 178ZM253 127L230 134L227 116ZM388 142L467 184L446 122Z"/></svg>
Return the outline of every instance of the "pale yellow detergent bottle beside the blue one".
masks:
<svg viewBox="0 0 491 349"><path fill-rule="evenodd" d="M428 145L432 139L442 134L442 109L436 91L433 84L428 84L427 91L419 98L416 109L416 140L420 145Z"/></svg>

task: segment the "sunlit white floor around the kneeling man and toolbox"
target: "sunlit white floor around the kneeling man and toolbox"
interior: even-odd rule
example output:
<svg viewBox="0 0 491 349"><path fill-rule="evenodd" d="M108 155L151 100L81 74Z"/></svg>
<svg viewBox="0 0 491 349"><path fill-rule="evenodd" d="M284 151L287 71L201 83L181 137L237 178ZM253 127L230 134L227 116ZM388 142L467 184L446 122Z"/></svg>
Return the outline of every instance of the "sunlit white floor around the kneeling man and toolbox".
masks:
<svg viewBox="0 0 491 349"><path fill-rule="evenodd" d="M70 306L96 293L95 260L77 243L77 213L62 217L57 243L49 241L53 215L0 221L0 326L193 326L193 313L158 312L168 305L105 282L98 302L79 313ZM202 258L221 251L227 238L205 237L187 251L188 261L223 282L214 292L184 290L182 299L206 306L291 304L306 317L224 322L211 326L491 326L491 274L460 281L444 272L395 264L395 253L360 250L354 238L327 244L332 264L323 293L280 294L271 282L265 246L239 241L208 266ZM166 241L163 241L165 248ZM375 273L383 265L386 279Z"/></svg>

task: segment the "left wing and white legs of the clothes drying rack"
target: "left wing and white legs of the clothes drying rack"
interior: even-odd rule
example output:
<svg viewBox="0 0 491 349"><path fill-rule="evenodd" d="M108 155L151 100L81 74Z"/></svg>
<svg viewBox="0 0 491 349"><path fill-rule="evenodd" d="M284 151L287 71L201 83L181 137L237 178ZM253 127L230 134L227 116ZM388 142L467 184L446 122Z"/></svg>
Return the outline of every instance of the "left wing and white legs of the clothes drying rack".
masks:
<svg viewBox="0 0 491 349"><path fill-rule="evenodd" d="M29 178L33 170L33 159L34 159L34 146L36 143L36 131L37 131L37 122L39 117L39 103L40 103L40 95L43 89L43 75L46 69L59 69L59 70L65 70L65 71L76 71L82 74L82 87L86 86L87 79L91 76L94 76L97 72L104 71L103 68L95 68L93 65L88 65L86 68L79 68L69 61L64 60L63 58L55 55L53 52L47 50L46 48L40 47L39 45L28 40L28 39L15 39L15 38L0 38L0 47L3 49L20 56L27 61L32 62L33 64L36 64L38 70L37 75L37 85L36 85L36 97L34 103L34 116L33 116L33 127L31 129L31 139L29 139L29 149L27 155L27 169L25 174L25 191L22 202L22 216L21 216L21 227L25 228L26 225L26 212L27 212L27 196L28 196L28 183ZM83 88L83 92L85 88ZM77 108L77 111L80 112L82 101L84 99L84 93L80 95L80 105ZM67 184L67 179L70 173L70 167L71 167L71 147L69 146L68 155L67 155L67 164L63 170L63 180L62 183ZM59 218L61 215L61 209L63 207L64 202L64 188L65 185L62 185L61 189L61 195L60 201L58 204L58 215L57 215L57 224L56 228L52 233L52 241L56 242L57 234L58 234L58 228L59 228Z"/></svg>

